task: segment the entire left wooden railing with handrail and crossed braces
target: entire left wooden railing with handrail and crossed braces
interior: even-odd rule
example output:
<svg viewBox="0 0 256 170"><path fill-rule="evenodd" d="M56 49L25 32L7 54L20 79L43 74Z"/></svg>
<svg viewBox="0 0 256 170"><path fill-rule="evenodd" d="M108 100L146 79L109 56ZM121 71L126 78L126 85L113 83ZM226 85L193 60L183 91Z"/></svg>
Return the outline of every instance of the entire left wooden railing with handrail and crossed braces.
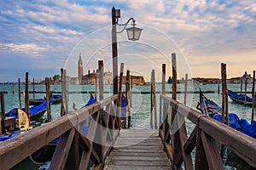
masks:
<svg viewBox="0 0 256 170"><path fill-rule="evenodd" d="M102 169L119 134L119 130L116 130L119 125L113 105L116 99L117 95L102 99L0 143L0 169L14 167L59 136L61 138L49 169L87 169L90 160L93 161L95 169ZM78 129L88 119L91 121L85 137ZM81 158L79 152L82 152Z"/></svg>

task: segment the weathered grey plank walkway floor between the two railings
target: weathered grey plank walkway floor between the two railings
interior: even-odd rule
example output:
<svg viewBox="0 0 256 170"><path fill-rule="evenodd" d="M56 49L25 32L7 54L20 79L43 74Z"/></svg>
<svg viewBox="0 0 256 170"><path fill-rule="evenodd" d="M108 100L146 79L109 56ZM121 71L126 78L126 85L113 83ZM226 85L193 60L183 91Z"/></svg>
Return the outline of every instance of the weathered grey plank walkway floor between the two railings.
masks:
<svg viewBox="0 0 256 170"><path fill-rule="evenodd" d="M158 130L125 129L113 144L104 169L171 169L171 163Z"/></svg>

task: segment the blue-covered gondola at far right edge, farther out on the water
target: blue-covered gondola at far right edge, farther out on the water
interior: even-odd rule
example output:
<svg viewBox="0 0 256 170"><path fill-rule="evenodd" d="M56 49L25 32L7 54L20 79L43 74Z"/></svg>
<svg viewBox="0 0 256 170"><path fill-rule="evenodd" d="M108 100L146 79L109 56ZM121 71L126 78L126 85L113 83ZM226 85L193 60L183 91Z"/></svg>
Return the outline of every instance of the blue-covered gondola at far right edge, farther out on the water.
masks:
<svg viewBox="0 0 256 170"><path fill-rule="evenodd" d="M245 94L236 94L231 90L228 90L228 94L230 99L235 101L236 103L243 104L243 105L252 105L253 99ZM256 97L254 98L254 106L256 106Z"/></svg>

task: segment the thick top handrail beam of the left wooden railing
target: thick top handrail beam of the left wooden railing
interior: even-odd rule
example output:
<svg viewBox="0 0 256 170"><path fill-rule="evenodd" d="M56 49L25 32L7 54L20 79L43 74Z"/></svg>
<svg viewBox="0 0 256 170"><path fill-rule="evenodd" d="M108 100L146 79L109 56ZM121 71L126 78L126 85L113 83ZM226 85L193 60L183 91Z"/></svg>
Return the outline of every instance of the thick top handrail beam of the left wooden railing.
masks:
<svg viewBox="0 0 256 170"><path fill-rule="evenodd" d="M80 122L94 115L101 108L117 99L117 94L102 99L92 105L86 106L78 111L73 111L65 116L61 116L55 121L46 125L36 127L31 131L22 133L13 139L0 143L0 165L1 169L9 169L17 163L30 156L36 150L44 147L51 140L61 136L68 130L77 126Z"/></svg>

